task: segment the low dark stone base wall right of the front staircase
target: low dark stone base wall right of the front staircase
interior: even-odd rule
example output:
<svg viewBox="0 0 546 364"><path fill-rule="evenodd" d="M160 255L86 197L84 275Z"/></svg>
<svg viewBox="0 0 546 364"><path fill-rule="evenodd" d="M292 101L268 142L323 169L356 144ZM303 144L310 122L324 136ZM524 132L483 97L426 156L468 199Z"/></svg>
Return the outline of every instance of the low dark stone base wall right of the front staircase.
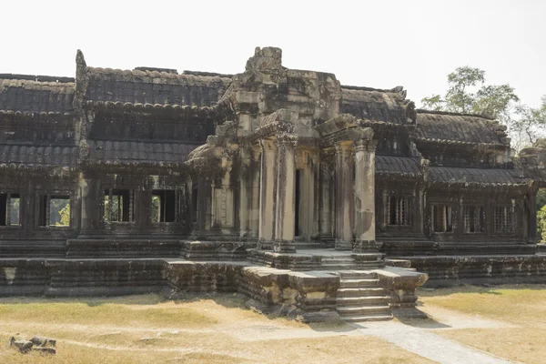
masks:
<svg viewBox="0 0 546 364"><path fill-rule="evenodd" d="M411 268L429 275L427 287L458 283L545 283L546 256L407 257Z"/></svg>

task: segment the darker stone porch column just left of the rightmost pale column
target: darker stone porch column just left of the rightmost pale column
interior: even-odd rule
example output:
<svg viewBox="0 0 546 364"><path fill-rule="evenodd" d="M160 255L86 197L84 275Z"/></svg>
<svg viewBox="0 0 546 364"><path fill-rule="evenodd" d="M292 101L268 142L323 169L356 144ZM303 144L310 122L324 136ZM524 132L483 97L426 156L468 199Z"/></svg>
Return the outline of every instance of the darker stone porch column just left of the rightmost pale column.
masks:
<svg viewBox="0 0 546 364"><path fill-rule="evenodd" d="M350 205L354 204L350 148L352 141L336 144L336 249L352 249Z"/></svg>

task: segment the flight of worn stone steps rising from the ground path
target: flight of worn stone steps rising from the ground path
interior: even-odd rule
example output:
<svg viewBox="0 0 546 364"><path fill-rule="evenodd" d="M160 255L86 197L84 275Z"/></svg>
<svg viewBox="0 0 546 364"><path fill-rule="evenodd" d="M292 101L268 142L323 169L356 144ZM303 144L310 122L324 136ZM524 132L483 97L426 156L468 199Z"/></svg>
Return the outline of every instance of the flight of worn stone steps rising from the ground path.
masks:
<svg viewBox="0 0 546 364"><path fill-rule="evenodd" d="M339 271L337 311L349 322L392 319L390 297L379 286L375 273L363 270Z"/></svg>

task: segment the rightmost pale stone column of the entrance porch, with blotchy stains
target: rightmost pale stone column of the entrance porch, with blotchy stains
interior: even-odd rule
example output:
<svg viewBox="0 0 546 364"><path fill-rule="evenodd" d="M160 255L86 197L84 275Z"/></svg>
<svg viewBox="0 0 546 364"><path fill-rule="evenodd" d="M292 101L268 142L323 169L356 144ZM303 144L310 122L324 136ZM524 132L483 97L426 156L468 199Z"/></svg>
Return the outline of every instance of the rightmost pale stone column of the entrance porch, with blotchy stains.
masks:
<svg viewBox="0 0 546 364"><path fill-rule="evenodd" d="M355 143L355 250L376 250L375 241L375 147L374 140Z"/></svg>

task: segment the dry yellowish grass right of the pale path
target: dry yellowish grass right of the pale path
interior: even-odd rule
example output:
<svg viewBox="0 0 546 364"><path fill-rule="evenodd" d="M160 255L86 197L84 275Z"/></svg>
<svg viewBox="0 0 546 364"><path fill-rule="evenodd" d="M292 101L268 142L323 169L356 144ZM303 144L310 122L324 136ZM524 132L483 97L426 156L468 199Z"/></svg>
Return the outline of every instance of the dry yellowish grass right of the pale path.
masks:
<svg viewBox="0 0 546 364"><path fill-rule="evenodd" d="M463 286L433 291L421 289L419 295L424 307L446 308L512 326L440 329L434 331L436 334L502 358L525 363L546 362L546 286Z"/></svg>

